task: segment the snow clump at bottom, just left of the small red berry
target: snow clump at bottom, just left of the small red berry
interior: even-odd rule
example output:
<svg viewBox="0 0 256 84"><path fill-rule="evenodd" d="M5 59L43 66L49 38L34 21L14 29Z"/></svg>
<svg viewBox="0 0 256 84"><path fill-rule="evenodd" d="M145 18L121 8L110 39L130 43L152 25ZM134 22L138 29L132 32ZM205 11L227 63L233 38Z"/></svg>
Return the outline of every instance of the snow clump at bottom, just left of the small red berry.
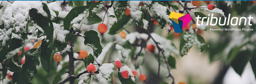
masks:
<svg viewBox="0 0 256 84"><path fill-rule="evenodd" d="M106 64L102 64L102 66L100 66L99 69L102 76L108 81L110 81L111 75L114 72L113 68L114 68L113 64L106 63Z"/></svg>

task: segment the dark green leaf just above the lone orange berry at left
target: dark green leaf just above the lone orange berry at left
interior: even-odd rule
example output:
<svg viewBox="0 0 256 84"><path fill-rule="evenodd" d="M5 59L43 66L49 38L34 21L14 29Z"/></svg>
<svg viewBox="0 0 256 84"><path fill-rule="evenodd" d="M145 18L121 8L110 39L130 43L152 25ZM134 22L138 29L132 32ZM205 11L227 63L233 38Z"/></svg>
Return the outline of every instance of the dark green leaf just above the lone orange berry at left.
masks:
<svg viewBox="0 0 256 84"><path fill-rule="evenodd" d="M54 43L52 44L52 48L55 52L59 52L66 49L66 45L67 43L62 43L58 40L55 40Z"/></svg>

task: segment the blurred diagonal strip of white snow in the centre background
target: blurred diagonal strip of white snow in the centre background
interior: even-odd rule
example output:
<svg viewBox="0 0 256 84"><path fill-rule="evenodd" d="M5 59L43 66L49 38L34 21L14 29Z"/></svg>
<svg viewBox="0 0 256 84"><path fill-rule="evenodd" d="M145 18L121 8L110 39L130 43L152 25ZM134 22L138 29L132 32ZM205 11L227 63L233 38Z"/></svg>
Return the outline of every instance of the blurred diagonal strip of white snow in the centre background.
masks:
<svg viewBox="0 0 256 84"><path fill-rule="evenodd" d="M97 61L99 63L103 63L104 61L104 57L106 56L107 52L109 51L109 48L111 48L113 42L107 43L103 48L102 48L102 52L99 55L99 57L97 58Z"/></svg>

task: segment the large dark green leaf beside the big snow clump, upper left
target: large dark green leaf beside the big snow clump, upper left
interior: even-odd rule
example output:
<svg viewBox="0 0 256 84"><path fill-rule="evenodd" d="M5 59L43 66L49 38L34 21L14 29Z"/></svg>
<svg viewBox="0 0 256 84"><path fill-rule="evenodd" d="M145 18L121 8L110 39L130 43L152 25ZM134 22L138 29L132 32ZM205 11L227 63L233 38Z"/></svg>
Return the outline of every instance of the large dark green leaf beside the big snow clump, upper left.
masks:
<svg viewBox="0 0 256 84"><path fill-rule="evenodd" d="M53 25L50 18L47 18L41 14L38 14L36 9L29 10L30 19L43 29L43 33L47 36L47 40L52 40ZM41 31L42 32L42 31Z"/></svg>

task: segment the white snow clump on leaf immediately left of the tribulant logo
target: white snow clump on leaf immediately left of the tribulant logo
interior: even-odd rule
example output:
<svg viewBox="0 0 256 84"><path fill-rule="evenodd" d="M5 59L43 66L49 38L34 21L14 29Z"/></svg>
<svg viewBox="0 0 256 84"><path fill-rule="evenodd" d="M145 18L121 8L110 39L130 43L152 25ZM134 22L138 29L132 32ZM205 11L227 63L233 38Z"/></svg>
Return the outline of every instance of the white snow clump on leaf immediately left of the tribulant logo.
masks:
<svg viewBox="0 0 256 84"><path fill-rule="evenodd" d="M160 5L158 2L154 2L152 4L152 7L150 7L149 9L149 14L151 16L159 16L160 18L163 18L164 20L166 20L166 22L169 24L169 25L172 25L172 22L169 18L169 15L167 14L167 7L163 6L163 5Z"/></svg>

